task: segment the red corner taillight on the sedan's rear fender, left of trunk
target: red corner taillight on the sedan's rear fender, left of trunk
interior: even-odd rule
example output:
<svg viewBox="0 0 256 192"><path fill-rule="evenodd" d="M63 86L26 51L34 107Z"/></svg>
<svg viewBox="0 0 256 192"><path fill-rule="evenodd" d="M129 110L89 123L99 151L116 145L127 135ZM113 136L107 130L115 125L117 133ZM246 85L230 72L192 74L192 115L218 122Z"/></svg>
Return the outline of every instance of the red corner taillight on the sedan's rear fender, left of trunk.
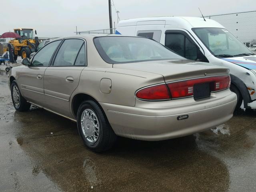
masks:
<svg viewBox="0 0 256 192"><path fill-rule="evenodd" d="M145 100L165 100L170 99L170 94L166 84L161 84L139 90L136 97Z"/></svg>

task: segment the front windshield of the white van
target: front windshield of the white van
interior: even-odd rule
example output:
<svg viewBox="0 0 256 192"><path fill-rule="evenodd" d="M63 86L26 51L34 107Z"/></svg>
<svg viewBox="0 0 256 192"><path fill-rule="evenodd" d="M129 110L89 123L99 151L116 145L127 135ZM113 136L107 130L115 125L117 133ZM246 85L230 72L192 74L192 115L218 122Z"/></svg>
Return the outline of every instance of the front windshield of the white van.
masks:
<svg viewBox="0 0 256 192"><path fill-rule="evenodd" d="M193 28L194 33L204 45L217 57L232 57L240 54L252 54L228 30L223 28Z"/></svg>

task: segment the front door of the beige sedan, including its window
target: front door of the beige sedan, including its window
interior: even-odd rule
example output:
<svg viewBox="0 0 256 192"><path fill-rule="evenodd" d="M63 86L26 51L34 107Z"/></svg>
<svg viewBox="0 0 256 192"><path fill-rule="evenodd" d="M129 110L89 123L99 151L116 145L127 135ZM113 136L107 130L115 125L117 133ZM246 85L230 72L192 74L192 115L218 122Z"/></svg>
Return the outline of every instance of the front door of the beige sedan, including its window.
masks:
<svg viewBox="0 0 256 192"><path fill-rule="evenodd" d="M60 42L51 42L40 49L33 57L32 64L22 68L19 77L23 96L39 106L44 105L44 72Z"/></svg>

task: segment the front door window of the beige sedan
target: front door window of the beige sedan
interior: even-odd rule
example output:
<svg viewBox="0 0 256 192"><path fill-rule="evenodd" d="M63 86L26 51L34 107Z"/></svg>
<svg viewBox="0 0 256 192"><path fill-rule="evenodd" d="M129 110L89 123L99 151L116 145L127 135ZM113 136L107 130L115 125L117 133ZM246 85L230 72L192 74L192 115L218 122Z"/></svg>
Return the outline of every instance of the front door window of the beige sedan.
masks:
<svg viewBox="0 0 256 192"><path fill-rule="evenodd" d="M33 57L32 66L48 66L52 58L52 54L60 42L61 40L51 42L40 49Z"/></svg>

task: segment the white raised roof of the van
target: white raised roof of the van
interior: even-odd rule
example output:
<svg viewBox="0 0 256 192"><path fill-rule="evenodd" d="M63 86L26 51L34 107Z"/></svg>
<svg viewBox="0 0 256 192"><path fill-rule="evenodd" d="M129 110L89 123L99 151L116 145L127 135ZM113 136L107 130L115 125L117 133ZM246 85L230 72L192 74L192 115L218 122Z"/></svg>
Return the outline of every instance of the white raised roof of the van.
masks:
<svg viewBox="0 0 256 192"><path fill-rule="evenodd" d="M164 25L165 28L168 25L172 26L172 28L201 28L201 27L216 27L216 28L224 28L218 22L201 17L177 17L177 16L167 16L167 17L148 17L148 18L136 18L136 19L128 19L122 20L118 23L118 27L120 26L136 26L136 25Z"/></svg>

